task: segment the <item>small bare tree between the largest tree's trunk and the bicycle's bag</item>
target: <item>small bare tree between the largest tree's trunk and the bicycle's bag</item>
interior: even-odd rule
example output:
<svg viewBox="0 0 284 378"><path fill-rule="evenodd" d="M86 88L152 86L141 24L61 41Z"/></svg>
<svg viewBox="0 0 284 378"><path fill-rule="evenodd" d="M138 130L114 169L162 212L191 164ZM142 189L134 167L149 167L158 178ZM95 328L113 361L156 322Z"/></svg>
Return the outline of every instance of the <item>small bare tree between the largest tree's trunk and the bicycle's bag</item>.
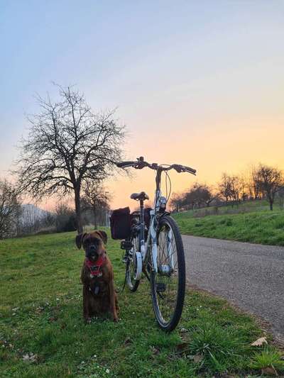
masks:
<svg viewBox="0 0 284 378"><path fill-rule="evenodd" d="M94 228L97 228L99 219L102 220L102 218L105 218L106 212L109 211L110 200L111 195L109 191L104 188L102 182L87 180L84 183L82 203L84 204L84 209L89 209L93 213Z"/></svg>

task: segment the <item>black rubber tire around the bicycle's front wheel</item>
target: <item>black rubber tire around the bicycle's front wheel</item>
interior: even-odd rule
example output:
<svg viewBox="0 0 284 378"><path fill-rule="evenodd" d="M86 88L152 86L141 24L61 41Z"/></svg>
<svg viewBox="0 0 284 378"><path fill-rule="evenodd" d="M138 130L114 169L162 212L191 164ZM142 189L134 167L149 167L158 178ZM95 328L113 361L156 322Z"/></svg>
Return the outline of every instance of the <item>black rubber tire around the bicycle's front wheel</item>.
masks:
<svg viewBox="0 0 284 378"><path fill-rule="evenodd" d="M158 232L157 232L157 240L159 243L160 238L160 231L163 226L170 228L173 231L173 237L175 238L175 245L176 245L176 252L177 252L177 262L178 262L178 291L175 299L175 308L173 309L173 313L171 314L169 320L165 320L163 317L163 313L161 313L160 303L158 296L160 294L157 291L157 284L159 273L156 274L155 271L152 269L151 271L151 297L152 297L152 304L153 310L155 313L156 321L158 322L158 326L163 330L170 332L175 329L180 321L180 317L182 315L182 308L185 301L185 252L183 249L182 238L180 235L180 230L178 229L178 225L175 220L171 216L163 216L160 219ZM159 260L159 248L158 246L158 260ZM173 254L173 253L172 253ZM174 269L173 269L174 270ZM170 287L170 284L168 284ZM170 289L168 289L170 291Z"/></svg>

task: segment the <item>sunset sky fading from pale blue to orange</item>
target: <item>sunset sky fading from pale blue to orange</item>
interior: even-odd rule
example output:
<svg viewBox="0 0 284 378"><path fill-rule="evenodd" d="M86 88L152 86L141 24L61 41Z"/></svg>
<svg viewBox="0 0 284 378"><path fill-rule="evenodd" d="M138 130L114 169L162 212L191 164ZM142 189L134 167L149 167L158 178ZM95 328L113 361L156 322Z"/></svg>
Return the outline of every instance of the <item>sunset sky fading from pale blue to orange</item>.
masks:
<svg viewBox="0 0 284 378"><path fill-rule="evenodd" d="M129 160L197 169L171 173L175 192L258 162L284 169L283 41L281 0L0 0L0 177L52 82L117 108ZM113 208L154 188L149 169L107 182Z"/></svg>

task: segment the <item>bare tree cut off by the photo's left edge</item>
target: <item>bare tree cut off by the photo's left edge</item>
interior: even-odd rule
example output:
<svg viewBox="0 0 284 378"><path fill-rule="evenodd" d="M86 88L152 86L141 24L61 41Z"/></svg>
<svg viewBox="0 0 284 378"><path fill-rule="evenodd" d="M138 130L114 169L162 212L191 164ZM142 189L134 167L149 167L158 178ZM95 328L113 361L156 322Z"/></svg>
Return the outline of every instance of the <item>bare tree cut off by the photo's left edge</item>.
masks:
<svg viewBox="0 0 284 378"><path fill-rule="evenodd" d="M16 189L6 180L0 180L0 239L16 234L20 213Z"/></svg>

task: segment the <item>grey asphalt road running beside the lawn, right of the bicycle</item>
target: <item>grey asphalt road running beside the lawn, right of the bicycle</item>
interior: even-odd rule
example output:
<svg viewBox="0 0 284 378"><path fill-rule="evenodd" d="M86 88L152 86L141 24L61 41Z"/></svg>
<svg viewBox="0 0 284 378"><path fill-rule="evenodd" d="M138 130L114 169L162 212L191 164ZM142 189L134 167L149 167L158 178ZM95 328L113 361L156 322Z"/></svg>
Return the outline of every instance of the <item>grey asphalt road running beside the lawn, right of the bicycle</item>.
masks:
<svg viewBox="0 0 284 378"><path fill-rule="evenodd" d="M284 340L284 248L182 236L187 279L271 324Z"/></svg>

